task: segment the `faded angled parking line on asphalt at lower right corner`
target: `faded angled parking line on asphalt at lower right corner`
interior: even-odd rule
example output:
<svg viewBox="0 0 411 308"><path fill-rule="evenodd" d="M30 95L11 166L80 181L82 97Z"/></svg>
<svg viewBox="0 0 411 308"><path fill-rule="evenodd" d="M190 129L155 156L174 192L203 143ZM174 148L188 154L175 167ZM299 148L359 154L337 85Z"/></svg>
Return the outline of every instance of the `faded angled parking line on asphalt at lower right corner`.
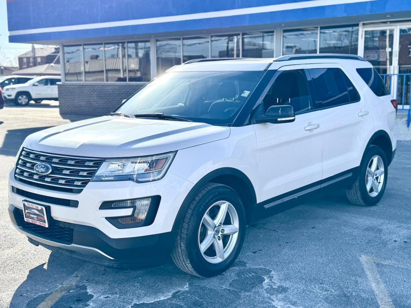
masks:
<svg viewBox="0 0 411 308"><path fill-rule="evenodd" d="M376 258L372 258L369 256L361 256L360 257L361 264L363 265L363 269L365 274L367 275L368 282L374 290L375 297L378 301L380 308L394 308L394 303L390 296L388 295L388 291L378 274L377 268L375 263L381 263L386 265L392 265L396 267L402 267L406 269L411 269L411 265L409 264L401 264L393 261L386 261L380 260Z"/></svg>

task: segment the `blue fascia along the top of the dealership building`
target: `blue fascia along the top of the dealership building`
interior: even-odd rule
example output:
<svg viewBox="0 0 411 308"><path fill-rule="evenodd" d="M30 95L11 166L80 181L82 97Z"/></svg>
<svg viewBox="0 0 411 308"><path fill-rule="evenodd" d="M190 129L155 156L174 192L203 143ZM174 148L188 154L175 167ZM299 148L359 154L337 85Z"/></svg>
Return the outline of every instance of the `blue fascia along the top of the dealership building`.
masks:
<svg viewBox="0 0 411 308"><path fill-rule="evenodd" d="M330 2L331 1L331 2ZM338 5L325 5L333 0L9 0L7 14L11 42L55 41L91 37L200 30L222 27L286 23L307 19L335 18L411 10L410 0L374 0ZM319 6L298 8L299 3L315 2ZM297 8L240 16L225 16L149 23L143 25L103 27L98 23L196 14L204 12L297 4ZM21 21L24 20L24 23ZM93 29L54 31L64 27L96 23ZM41 33L34 29L42 28ZM80 28L81 29L81 28ZM31 30L23 33L22 30ZM19 31L14 32L14 31Z"/></svg>

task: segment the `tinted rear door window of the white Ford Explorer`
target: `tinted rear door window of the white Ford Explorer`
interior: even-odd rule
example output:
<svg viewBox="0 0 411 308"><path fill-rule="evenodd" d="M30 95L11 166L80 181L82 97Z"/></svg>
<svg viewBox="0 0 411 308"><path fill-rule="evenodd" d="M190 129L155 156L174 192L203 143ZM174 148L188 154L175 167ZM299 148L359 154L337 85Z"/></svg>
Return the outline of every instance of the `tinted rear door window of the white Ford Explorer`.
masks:
<svg viewBox="0 0 411 308"><path fill-rule="evenodd" d="M351 102L344 80L345 74L339 68L312 68L308 71L316 93L317 108Z"/></svg>

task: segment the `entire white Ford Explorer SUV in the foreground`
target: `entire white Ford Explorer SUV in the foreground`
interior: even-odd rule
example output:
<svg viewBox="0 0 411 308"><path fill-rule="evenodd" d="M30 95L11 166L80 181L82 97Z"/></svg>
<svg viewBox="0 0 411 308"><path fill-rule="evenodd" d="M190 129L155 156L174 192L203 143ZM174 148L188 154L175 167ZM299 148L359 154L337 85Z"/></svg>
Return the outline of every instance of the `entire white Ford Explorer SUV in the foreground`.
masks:
<svg viewBox="0 0 411 308"><path fill-rule="evenodd" d="M9 175L12 224L101 265L171 255L217 275L254 219L339 188L378 203L397 143L391 100L357 56L192 60L109 116L28 136Z"/></svg>

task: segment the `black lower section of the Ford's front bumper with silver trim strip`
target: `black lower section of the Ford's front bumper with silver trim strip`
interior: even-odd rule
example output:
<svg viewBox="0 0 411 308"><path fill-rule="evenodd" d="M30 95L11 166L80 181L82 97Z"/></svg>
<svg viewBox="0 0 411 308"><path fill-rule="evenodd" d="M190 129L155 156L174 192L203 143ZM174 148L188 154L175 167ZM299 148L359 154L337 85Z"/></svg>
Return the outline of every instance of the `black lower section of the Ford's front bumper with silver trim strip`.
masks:
<svg viewBox="0 0 411 308"><path fill-rule="evenodd" d="M134 267L165 260L173 248L176 232L113 239L100 230L51 219L49 228L27 223L23 212L9 206L13 226L27 235L29 242L52 251L109 267Z"/></svg>

